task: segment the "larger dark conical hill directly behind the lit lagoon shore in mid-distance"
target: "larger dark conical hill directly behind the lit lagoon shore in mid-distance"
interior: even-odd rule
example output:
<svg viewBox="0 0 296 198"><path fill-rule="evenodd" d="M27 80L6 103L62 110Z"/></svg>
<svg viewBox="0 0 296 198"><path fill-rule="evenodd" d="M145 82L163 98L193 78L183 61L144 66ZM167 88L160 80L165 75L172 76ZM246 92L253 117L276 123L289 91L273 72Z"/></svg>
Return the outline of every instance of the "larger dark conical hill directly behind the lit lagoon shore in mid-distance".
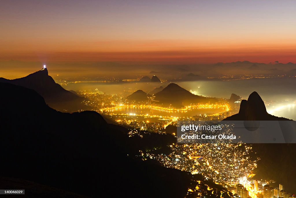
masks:
<svg viewBox="0 0 296 198"><path fill-rule="evenodd" d="M158 103L164 104L164 105L172 104L173 106L176 106L176 107L189 105L190 103L216 101L213 98L206 98L206 97L194 95L175 83L170 83L162 91L154 95L155 95L155 101L158 101Z"/></svg>

